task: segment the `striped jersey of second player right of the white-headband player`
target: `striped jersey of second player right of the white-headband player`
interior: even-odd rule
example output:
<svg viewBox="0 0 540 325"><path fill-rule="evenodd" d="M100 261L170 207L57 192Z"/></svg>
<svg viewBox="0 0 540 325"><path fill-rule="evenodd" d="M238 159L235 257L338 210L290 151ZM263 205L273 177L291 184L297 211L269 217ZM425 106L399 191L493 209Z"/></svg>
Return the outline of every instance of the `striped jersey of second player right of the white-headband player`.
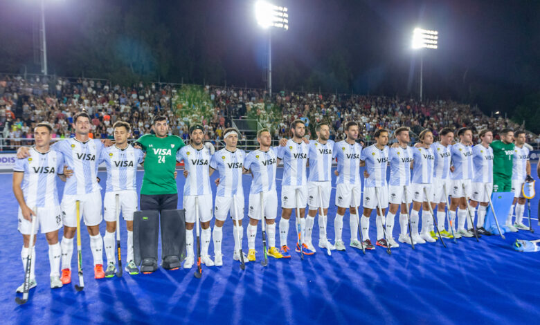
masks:
<svg viewBox="0 0 540 325"><path fill-rule="evenodd" d="M308 148L305 142L296 143L289 139L285 147L280 147L278 158L283 160L282 186L301 186L307 184L307 154Z"/></svg>

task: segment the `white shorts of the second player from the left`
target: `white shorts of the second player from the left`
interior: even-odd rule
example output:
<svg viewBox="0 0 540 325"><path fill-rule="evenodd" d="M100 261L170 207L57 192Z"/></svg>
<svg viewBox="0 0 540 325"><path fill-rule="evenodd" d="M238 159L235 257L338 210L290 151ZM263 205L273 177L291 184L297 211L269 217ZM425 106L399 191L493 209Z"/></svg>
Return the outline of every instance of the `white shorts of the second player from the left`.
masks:
<svg viewBox="0 0 540 325"><path fill-rule="evenodd" d="M77 227L76 201L80 201L80 218L84 220L84 225L99 225L101 216L101 192L92 192L84 195L64 195L62 198L62 218L64 225Z"/></svg>

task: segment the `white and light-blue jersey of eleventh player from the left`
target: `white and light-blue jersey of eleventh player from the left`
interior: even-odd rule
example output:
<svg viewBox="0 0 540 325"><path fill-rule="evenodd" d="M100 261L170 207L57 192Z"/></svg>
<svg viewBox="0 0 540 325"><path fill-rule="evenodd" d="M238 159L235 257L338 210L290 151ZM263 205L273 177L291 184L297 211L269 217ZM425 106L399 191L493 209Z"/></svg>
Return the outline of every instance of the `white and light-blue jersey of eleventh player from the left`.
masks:
<svg viewBox="0 0 540 325"><path fill-rule="evenodd" d="M370 174L363 183L364 187L386 187L388 146L381 150L376 145L370 145L362 150L360 160L366 162L366 171Z"/></svg>

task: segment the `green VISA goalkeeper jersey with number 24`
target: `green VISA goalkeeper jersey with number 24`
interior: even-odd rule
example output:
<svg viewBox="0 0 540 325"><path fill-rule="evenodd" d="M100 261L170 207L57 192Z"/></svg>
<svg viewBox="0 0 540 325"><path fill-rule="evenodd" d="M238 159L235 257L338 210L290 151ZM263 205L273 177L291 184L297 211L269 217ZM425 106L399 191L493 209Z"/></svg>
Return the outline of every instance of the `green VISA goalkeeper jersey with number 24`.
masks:
<svg viewBox="0 0 540 325"><path fill-rule="evenodd" d="M174 171L177 165L177 151L185 146L178 136L158 138L155 134L145 134L138 143L146 151L145 176L141 194L177 194L177 181Z"/></svg>

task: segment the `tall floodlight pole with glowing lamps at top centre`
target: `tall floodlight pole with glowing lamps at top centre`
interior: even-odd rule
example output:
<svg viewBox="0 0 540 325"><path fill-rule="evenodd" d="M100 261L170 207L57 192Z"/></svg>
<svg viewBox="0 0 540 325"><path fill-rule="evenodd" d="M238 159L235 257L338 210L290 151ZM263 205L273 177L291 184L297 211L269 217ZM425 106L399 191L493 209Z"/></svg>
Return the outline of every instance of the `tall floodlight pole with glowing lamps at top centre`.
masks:
<svg viewBox="0 0 540 325"><path fill-rule="evenodd" d="M272 39L271 27L289 29L289 14L286 7L274 6L266 1L255 3L255 17L257 23L264 29L268 29L268 93L272 95Z"/></svg>

